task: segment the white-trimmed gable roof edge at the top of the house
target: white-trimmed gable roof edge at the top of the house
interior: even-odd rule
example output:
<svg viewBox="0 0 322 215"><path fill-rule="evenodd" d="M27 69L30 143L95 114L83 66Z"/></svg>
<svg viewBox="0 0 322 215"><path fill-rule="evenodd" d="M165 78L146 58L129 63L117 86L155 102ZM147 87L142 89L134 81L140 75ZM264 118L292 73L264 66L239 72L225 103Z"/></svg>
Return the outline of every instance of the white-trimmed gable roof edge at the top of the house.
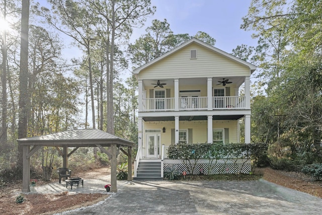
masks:
<svg viewBox="0 0 322 215"><path fill-rule="evenodd" d="M190 45L192 43L197 43L197 44L199 44L199 45L201 45L201 46L203 46L203 47L205 47L205 48L207 48L207 49L209 49L209 50L211 50L211 51L213 51L213 52L215 52L217 54L220 54L220 55L222 55L222 56L224 56L226 58L229 58L229 59L231 59L233 61L236 61L237 63L243 64L243 65L249 67L250 70L251 70L251 73L253 73L257 68L257 66L253 65L252 63L249 63L249 62L246 62L245 60L239 59L238 57L235 57L235 56L233 56L231 54L228 54L227 52L224 52L224 51L222 51L222 50L220 50L220 49L218 49L216 47L208 45L207 43L205 43L203 41L200 41L200 40L198 40L196 38L192 38L192 39L188 40L187 42L179 45L178 47L172 49L171 51L168 51L167 53L165 53L165 54L163 54L163 55L151 60L150 62L148 62L148 63L146 63L146 64L144 64L144 65L142 65L142 66L140 66L140 67L138 67L136 69L134 69L133 74L137 78L137 74L139 74L142 69L145 69L145 68L153 65L154 63L156 63L156 62L168 57L169 55L171 55L171 54L183 49L184 47L186 47L186 46L188 46L188 45Z"/></svg>

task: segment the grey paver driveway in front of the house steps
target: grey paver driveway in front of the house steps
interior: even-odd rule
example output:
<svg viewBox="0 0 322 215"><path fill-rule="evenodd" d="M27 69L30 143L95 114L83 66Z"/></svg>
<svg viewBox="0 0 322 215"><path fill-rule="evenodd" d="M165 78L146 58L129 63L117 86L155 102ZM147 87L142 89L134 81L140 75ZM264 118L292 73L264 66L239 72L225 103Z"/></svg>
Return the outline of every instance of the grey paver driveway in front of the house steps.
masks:
<svg viewBox="0 0 322 215"><path fill-rule="evenodd" d="M321 214L322 199L265 180L132 181L68 214Z"/></svg>

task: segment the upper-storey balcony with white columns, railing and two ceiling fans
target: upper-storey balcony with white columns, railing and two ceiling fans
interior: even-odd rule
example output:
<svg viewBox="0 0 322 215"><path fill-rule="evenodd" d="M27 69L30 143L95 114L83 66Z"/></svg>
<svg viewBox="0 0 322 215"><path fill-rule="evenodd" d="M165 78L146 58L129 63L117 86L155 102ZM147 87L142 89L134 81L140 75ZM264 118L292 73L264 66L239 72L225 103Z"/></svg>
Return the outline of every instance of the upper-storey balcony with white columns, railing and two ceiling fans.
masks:
<svg viewBox="0 0 322 215"><path fill-rule="evenodd" d="M243 83L245 95L239 95ZM249 77L139 80L138 85L139 112L250 110Z"/></svg>

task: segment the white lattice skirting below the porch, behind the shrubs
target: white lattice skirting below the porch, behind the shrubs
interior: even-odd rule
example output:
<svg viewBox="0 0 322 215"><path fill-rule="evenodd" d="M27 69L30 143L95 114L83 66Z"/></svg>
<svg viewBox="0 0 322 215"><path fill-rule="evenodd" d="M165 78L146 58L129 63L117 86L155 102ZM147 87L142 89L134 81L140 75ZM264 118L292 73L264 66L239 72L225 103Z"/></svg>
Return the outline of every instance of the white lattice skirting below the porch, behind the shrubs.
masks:
<svg viewBox="0 0 322 215"><path fill-rule="evenodd" d="M194 162L191 161L193 164ZM169 171L169 168L176 167L179 172L186 171L187 174L189 171L186 166L182 163L181 160L164 160L164 171ZM192 166L192 165L191 165ZM199 160L196 164L196 167L193 171L193 174L199 174L200 170L203 170L203 174L236 174L236 173L246 173L249 174L251 172L251 161L250 160L218 160L217 163L215 161L212 165L209 164L209 160Z"/></svg>

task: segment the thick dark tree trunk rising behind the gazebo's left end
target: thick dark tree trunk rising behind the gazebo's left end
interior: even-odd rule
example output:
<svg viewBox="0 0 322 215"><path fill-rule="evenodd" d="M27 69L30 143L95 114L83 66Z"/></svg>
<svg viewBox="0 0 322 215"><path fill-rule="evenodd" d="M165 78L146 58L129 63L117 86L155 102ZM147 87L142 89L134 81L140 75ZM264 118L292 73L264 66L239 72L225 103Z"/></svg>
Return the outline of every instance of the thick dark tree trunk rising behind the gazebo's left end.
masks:
<svg viewBox="0 0 322 215"><path fill-rule="evenodd" d="M28 115L28 32L29 32L29 0L22 0L21 10L21 49L19 73L19 120L18 138L27 136ZM18 168L22 168L23 148L18 146Z"/></svg>

